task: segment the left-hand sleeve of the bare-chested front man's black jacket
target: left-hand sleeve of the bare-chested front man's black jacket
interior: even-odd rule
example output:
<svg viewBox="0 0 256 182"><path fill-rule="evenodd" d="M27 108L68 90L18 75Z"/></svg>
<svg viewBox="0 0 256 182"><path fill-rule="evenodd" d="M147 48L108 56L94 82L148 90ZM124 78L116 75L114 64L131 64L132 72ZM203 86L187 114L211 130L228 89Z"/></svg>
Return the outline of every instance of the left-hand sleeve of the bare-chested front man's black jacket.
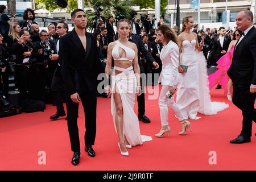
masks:
<svg viewBox="0 0 256 182"><path fill-rule="evenodd" d="M73 83L71 72L69 69L69 50L68 50L68 41L60 38L60 50L59 50L59 63L60 63L60 71L65 82L65 90L68 95L76 93L75 85Z"/></svg>

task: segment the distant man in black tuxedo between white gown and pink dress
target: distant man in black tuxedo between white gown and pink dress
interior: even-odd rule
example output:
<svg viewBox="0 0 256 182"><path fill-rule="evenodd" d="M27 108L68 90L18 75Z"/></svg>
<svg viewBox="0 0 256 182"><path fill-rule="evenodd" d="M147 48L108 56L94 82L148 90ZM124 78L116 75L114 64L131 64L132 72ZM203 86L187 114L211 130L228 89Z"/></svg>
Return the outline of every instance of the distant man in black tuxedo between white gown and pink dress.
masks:
<svg viewBox="0 0 256 182"><path fill-rule="evenodd" d="M225 36L225 27L220 27L218 31L220 35L214 39L212 46L214 53L214 63L212 65L214 66L217 66L217 61L228 51L229 43L231 42L229 36ZM221 85L218 84L216 89L221 89Z"/></svg>

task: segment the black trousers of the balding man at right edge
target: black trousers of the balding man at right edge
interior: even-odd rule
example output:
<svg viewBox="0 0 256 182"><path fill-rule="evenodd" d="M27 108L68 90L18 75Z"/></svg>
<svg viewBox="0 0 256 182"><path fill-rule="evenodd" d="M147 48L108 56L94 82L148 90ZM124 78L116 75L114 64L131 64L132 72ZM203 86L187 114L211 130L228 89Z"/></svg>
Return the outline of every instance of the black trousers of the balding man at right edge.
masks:
<svg viewBox="0 0 256 182"><path fill-rule="evenodd" d="M242 110L243 123L241 135L251 137L253 120L255 122L256 112L254 109L255 93L250 93L250 85L233 84L233 103Z"/></svg>

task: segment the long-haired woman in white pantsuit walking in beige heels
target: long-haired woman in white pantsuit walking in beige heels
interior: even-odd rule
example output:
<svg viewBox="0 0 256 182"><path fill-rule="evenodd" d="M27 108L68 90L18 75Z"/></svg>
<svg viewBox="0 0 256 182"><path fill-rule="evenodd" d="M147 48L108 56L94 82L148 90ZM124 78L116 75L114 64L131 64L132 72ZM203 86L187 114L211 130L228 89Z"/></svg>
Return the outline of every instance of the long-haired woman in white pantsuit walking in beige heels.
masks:
<svg viewBox="0 0 256 182"><path fill-rule="evenodd" d="M177 36L170 27L163 25L158 28L158 34L164 47L160 53L160 59L162 60L163 67L160 73L159 83L161 82L162 90L159 96L160 118L162 128L156 137L163 137L167 133L169 135L170 127L168 125L168 106L170 106L182 124L183 130L180 131L180 135L187 133L187 128L190 127L190 123L183 117L180 108L174 101L174 96L171 98L166 97L166 93L170 91L172 95L175 94L177 85L179 84L179 47L177 46Z"/></svg>

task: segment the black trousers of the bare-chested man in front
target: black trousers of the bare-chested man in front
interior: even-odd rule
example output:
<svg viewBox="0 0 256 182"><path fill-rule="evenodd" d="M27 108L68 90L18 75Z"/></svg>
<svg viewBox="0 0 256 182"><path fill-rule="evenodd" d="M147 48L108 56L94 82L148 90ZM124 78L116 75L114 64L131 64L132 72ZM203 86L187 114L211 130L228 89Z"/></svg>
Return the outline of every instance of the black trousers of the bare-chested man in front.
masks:
<svg viewBox="0 0 256 182"><path fill-rule="evenodd" d="M73 152L80 151L79 129L77 126L77 115L79 104L71 100L71 97L66 95L67 117L68 117L68 133L71 142L71 150ZM96 137L96 91L79 92L79 96L84 107L85 113L85 145L94 145Z"/></svg>

